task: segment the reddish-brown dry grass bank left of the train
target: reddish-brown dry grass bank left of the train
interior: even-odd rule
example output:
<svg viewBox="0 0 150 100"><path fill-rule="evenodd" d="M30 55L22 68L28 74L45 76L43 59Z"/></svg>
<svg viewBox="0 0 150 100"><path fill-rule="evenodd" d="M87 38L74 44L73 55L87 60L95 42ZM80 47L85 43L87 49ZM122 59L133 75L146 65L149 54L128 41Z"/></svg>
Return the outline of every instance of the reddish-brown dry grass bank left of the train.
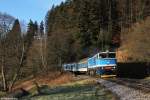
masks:
<svg viewBox="0 0 150 100"><path fill-rule="evenodd" d="M39 75L37 78L32 78L29 80L21 81L21 83L17 83L13 90L17 90L19 88L23 88L25 90L30 90L35 86L34 82L37 82L38 85L49 85L56 86L64 83L68 83L72 81L72 75L69 73L61 73L61 72L51 72L48 75Z"/></svg>

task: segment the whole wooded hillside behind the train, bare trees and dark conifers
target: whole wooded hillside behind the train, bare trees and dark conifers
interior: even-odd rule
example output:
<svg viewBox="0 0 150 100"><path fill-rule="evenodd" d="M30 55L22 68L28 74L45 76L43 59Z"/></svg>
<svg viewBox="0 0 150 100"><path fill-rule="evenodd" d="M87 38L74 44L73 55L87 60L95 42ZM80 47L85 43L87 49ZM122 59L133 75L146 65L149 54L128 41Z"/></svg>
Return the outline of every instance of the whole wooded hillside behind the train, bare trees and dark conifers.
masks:
<svg viewBox="0 0 150 100"><path fill-rule="evenodd" d="M22 32L18 19L0 13L1 89L11 91L20 79L116 50L121 36L149 15L149 0L66 0Z"/></svg>

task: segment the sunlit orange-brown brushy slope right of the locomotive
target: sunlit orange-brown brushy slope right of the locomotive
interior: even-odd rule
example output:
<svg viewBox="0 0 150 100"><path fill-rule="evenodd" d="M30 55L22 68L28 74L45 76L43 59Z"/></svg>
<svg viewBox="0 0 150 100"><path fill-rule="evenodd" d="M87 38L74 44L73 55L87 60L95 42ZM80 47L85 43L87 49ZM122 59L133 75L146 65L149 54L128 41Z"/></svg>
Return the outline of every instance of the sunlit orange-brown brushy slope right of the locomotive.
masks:
<svg viewBox="0 0 150 100"><path fill-rule="evenodd" d="M119 62L150 62L150 18L135 23L129 32L122 33Z"/></svg>

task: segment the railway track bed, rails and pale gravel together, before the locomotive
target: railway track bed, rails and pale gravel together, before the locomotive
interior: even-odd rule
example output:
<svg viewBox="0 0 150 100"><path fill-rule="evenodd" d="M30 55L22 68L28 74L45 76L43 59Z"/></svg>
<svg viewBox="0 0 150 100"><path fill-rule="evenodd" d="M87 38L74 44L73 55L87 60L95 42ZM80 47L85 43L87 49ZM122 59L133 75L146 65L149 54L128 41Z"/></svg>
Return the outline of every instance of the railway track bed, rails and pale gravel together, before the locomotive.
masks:
<svg viewBox="0 0 150 100"><path fill-rule="evenodd" d="M136 79L97 79L120 100L150 100L150 81Z"/></svg>

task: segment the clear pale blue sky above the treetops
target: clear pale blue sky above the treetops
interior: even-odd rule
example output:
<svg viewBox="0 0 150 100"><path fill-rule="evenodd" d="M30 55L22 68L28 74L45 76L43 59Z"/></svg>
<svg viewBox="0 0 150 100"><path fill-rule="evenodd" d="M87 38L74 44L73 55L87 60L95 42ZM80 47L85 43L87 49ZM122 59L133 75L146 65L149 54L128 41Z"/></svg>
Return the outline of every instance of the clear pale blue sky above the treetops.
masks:
<svg viewBox="0 0 150 100"><path fill-rule="evenodd" d="M65 0L0 0L0 12L8 13L26 22L29 19L40 22L52 5Z"/></svg>

